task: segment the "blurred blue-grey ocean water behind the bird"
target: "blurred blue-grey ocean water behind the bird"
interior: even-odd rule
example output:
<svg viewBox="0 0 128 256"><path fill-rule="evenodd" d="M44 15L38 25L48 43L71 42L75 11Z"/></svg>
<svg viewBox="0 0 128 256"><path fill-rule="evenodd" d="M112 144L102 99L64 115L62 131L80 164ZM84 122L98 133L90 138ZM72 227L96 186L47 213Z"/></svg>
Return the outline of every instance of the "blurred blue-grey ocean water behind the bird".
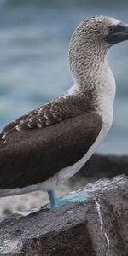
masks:
<svg viewBox="0 0 128 256"><path fill-rule="evenodd" d="M73 84L68 42L78 23L91 15L128 22L128 2L0 1L0 129ZM113 127L98 151L128 154L128 42L113 46L108 59L117 95Z"/></svg>

